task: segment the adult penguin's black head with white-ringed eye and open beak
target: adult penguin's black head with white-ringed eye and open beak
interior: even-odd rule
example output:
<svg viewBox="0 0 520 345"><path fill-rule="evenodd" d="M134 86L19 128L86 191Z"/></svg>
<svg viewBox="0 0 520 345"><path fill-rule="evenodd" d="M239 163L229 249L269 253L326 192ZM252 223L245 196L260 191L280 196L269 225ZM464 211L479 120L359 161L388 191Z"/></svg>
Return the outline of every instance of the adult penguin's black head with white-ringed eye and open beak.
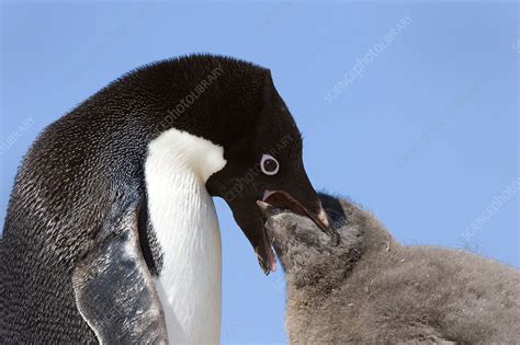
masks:
<svg viewBox="0 0 520 345"><path fill-rule="evenodd" d="M253 125L226 142L227 163L210 177L206 187L213 196L227 202L262 269L269 274L276 265L258 200L309 217L335 240L337 237L329 230L327 214L305 172L299 130L269 71L262 93L262 106L257 113L242 115L253 116Z"/></svg>

